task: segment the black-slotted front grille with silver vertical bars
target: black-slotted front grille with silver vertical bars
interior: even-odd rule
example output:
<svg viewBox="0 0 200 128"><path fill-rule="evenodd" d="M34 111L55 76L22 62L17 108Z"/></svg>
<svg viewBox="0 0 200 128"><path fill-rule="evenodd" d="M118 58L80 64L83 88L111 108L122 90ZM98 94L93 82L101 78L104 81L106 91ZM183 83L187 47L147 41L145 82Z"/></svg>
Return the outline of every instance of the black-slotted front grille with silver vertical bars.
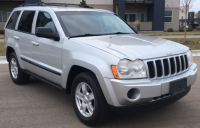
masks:
<svg viewBox="0 0 200 128"><path fill-rule="evenodd" d="M188 59L185 54L146 61L149 78L163 78L185 72Z"/></svg>

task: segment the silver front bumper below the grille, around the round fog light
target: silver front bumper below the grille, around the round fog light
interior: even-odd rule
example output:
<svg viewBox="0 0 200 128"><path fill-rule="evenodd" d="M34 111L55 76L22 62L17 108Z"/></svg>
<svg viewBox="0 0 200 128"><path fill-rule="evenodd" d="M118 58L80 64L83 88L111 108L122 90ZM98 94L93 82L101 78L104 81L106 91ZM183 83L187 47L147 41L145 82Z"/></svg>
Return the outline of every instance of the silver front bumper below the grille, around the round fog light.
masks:
<svg viewBox="0 0 200 128"><path fill-rule="evenodd" d="M193 85L197 79L197 65L194 63L187 72L182 74L163 78L163 79L135 79L135 80L118 80L108 78L98 78L100 84L103 83L102 90L109 105L115 107L132 106L144 104L154 99L169 97L170 82L182 78L187 78L187 86ZM139 90L134 99L129 99L127 93L130 89Z"/></svg>

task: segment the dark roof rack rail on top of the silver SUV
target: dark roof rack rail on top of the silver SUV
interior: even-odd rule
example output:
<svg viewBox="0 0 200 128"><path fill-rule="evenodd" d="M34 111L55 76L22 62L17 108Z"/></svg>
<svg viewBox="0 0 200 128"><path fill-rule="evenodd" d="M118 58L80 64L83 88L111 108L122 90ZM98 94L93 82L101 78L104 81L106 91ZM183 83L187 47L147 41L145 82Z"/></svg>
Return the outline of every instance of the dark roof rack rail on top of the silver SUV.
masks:
<svg viewBox="0 0 200 128"><path fill-rule="evenodd" d="M43 2L39 2L37 4L22 4L20 5L20 7L25 7L25 6L65 6L65 7L68 7L68 6L78 6L78 7L81 7L81 8L93 8L91 6L88 6L88 5L80 5L80 4L67 4L67 3L43 3Z"/></svg>

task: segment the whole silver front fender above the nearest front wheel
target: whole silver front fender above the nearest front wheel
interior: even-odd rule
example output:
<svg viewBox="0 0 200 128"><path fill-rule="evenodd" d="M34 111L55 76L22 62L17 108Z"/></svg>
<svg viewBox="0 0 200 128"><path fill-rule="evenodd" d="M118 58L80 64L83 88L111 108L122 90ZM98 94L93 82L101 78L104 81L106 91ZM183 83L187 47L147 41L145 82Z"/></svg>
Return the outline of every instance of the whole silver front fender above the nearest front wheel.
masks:
<svg viewBox="0 0 200 128"><path fill-rule="evenodd" d="M84 67L96 75L108 104L113 104L111 100L113 88L107 86L104 78L114 78L111 65L117 65L119 61L116 56L89 45L66 42L62 52L62 87L66 88L68 75L73 66Z"/></svg>

